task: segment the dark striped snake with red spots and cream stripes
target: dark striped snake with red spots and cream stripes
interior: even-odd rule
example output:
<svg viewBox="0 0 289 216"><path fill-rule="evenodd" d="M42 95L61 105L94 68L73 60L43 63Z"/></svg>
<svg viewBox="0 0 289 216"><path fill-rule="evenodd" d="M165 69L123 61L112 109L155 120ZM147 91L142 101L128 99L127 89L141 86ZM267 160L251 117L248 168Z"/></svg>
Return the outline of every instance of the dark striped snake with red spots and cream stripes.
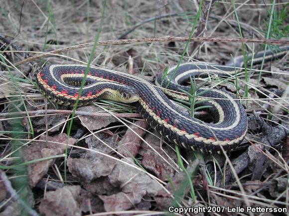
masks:
<svg viewBox="0 0 289 216"><path fill-rule="evenodd" d="M284 46L277 52L249 54L246 59L253 59L255 65L263 59L280 58L288 51L289 46ZM150 127L166 140L193 151L220 154L234 150L246 135L247 114L240 100L227 91L198 88L196 93L201 93L201 97L196 101L199 106L206 107L212 118L205 122L180 111L171 99L190 100L190 95L186 94L190 87L183 85L190 77L235 77L243 66L244 56L238 56L226 65L183 63L158 76L153 85L139 76L120 71L81 64L51 64L37 73L36 84L51 102L63 106L74 106L77 100L78 106L85 106L99 99L134 103Z"/></svg>

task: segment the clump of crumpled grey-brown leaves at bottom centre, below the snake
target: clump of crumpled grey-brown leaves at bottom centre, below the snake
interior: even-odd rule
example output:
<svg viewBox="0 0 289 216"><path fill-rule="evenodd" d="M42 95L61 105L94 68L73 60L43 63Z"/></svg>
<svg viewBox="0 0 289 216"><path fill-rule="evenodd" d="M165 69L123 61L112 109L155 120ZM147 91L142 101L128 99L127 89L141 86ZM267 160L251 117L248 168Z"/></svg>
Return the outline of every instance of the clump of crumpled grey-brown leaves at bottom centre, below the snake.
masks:
<svg viewBox="0 0 289 216"><path fill-rule="evenodd" d="M84 158L68 159L67 165L88 191L99 195L106 211L122 211L139 204L144 196L155 196L162 188L156 180L136 169L131 158L122 161L125 163L89 152Z"/></svg>

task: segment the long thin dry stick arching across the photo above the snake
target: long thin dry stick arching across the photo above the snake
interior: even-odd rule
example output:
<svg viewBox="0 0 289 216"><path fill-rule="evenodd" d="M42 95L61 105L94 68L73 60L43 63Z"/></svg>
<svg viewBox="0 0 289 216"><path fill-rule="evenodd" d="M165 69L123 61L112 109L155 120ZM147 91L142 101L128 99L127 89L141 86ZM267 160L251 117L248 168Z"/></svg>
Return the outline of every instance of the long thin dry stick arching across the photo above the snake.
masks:
<svg viewBox="0 0 289 216"><path fill-rule="evenodd" d="M121 39L121 40L105 40L97 42L97 45L108 45L108 44L129 44L129 43L150 43L150 42L167 42L167 41L187 41L189 37L157 37L157 38L141 38L141 39ZM192 37L190 41L200 42L228 42L228 43L266 43L276 45L288 45L289 40L271 40L271 39L251 39L251 38L228 38L228 37ZM53 50L51 52L40 54L27 58L23 61L17 62L15 66L25 64L30 61L34 61L38 58L49 56L50 54L57 54L69 50L80 49L85 47L93 46L92 43L84 43L71 47Z"/></svg>

